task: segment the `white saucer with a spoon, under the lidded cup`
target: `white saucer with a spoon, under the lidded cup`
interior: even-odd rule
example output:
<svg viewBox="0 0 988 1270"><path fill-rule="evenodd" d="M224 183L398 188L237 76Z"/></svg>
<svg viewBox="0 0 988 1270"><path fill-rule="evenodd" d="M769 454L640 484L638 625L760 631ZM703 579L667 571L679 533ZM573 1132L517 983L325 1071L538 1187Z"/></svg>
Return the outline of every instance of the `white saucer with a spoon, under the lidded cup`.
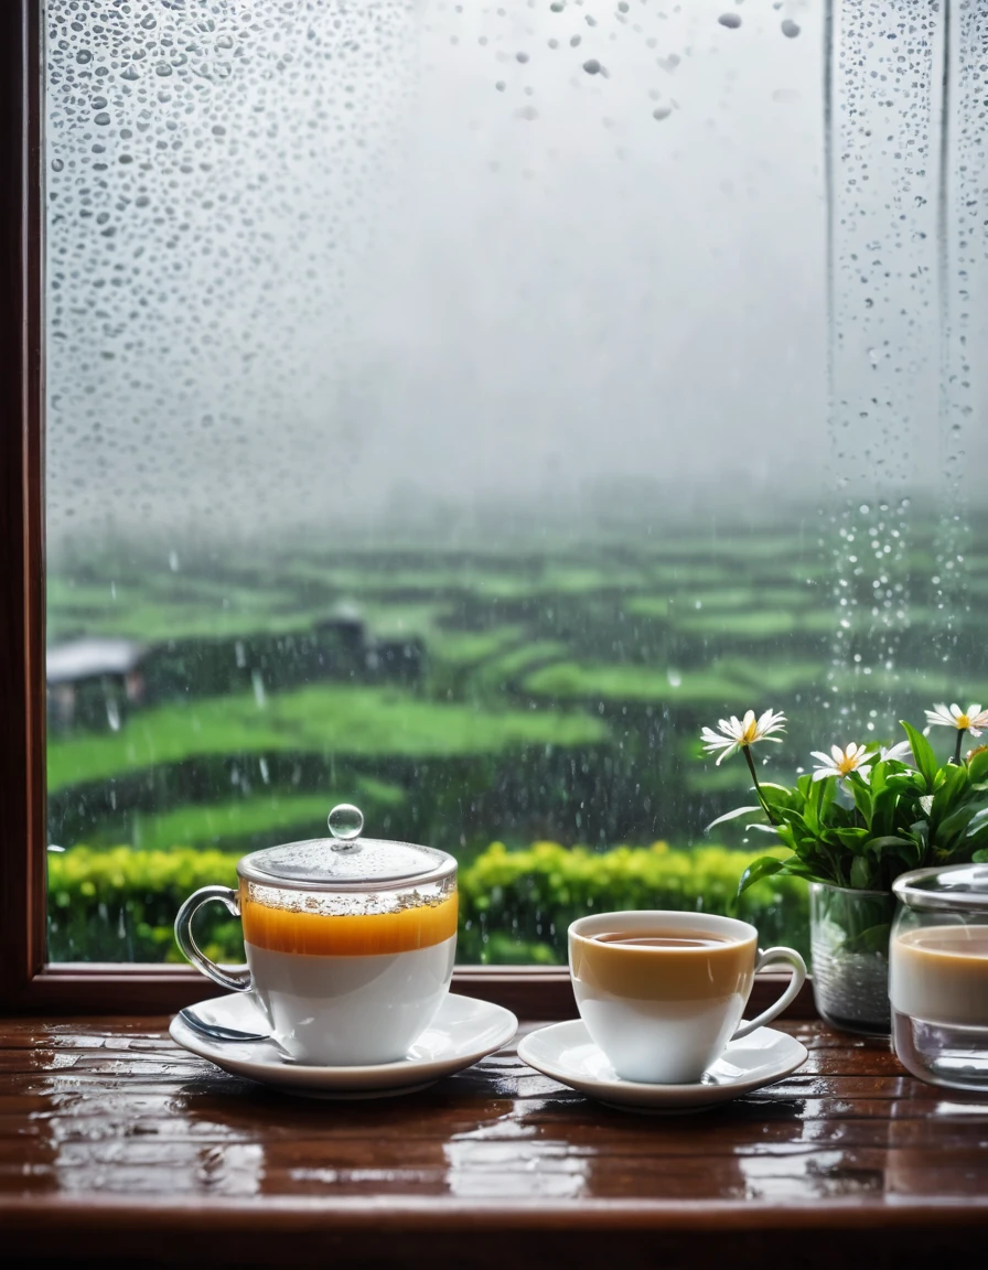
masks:
<svg viewBox="0 0 988 1270"><path fill-rule="evenodd" d="M196 1006L210 1024L263 1031L265 1022L249 993L231 992ZM305 1067L286 1059L274 1041L220 1041L194 1031L175 1016L171 1039L234 1076L273 1085L286 1093L317 1099L381 1099L423 1090L443 1076L471 1067L505 1045L518 1029L509 1010L450 993L433 1024L397 1063L368 1067Z"/></svg>

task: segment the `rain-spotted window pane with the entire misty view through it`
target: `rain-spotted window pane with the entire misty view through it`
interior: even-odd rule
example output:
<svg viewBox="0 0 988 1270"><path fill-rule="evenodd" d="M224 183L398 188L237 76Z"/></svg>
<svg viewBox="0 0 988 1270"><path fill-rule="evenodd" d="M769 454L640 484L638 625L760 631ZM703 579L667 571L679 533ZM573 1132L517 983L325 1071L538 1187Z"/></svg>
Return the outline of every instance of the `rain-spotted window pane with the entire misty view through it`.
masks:
<svg viewBox="0 0 988 1270"><path fill-rule="evenodd" d="M988 691L977 9L48 0L53 958L347 801L557 961L726 906L702 725Z"/></svg>

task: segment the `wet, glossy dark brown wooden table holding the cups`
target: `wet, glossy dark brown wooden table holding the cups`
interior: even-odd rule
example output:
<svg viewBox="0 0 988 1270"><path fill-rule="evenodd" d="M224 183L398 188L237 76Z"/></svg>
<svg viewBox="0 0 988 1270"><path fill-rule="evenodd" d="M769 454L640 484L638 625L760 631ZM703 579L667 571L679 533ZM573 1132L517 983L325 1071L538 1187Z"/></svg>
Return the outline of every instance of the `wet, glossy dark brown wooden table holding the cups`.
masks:
<svg viewBox="0 0 988 1270"><path fill-rule="evenodd" d="M0 1248L140 1265L853 1266L980 1260L988 1101L886 1041L787 1026L806 1066L674 1118L608 1110L514 1046L422 1093L296 1100L163 1019L0 1020Z"/></svg>

